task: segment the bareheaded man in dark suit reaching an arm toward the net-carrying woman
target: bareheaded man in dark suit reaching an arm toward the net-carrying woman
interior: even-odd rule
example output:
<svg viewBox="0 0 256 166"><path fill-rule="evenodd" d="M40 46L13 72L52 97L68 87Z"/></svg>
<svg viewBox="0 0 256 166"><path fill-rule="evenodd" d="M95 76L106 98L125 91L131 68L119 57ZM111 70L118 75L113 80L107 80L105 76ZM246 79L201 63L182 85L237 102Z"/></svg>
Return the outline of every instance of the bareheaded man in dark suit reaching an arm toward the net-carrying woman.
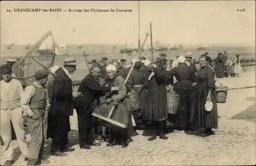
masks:
<svg viewBox="0 0 256 166"><path fill-rule="evenodd" d="M99 104L99 97L103 96L103 92L111 92L121 90L123 87L107 87L100 86L98 78L100 76L100 68L93 65L90 68L90 74L84 77L78 91L82 96L75 98L74 106L77 112L78 130L79 130L79 146L81 149L91 149L91 146L99 146L93 139L93 117L94 108Z"/></svg>

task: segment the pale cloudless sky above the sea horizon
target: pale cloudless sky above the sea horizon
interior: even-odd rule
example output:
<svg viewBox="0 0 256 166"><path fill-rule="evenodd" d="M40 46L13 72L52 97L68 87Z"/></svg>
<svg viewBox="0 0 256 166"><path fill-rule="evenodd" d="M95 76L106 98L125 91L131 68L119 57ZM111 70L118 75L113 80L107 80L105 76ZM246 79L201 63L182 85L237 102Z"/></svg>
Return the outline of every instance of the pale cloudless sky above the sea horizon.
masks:
<svg viewBox="0 0 256 166"><path fill-rule="evenodd" d="M247 43L255 45L254 1L141 1L140 38L153 43ZM14 12L60 8L62 12ZM64 12L69 9L132 12ZM7 12L10 9L12 12ZM238 12L245 9L245 12ZM61 44L138 43L138 1L1 1L1 44L35 43L47 31ZM150 43L148 37L146 44Z"/></svg>

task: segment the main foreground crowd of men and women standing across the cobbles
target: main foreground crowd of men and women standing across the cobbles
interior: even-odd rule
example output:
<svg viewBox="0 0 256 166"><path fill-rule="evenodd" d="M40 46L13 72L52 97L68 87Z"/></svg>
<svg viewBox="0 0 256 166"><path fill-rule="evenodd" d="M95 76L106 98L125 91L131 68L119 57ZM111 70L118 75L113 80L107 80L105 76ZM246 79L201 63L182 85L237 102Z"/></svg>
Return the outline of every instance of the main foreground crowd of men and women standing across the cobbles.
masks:
<svg viewBox="0 0 256 166"><path fill-rule="evenodd" d="M53 66L50 69L53 77L49 81L49 71L38 70L36 81L25 90L12 78L11 64L2 65L1 137L7 158L5 165L13 163L11 123L28 165L50 162L42 158L45 138L52 138L51 155L67 156L67 152L75 151L68 148L70 116L74 109L81 149L100 146L96 140L107 141L107 147L121 145L125 148L133 141L136 130L150 131L148 141L157 136L168 139L165 134L172 132L173 126L178 130L204 128L199 136L215 134L212 129L218 128L217 73L212 68L211 58L207 54L201 55L200 69L197 70L191 63L191 53L177 57L172 64L165 57L162 55L154 62L140 57L133 59L130 66L124 66L125 59L113 59L110 64L107 58L93 61L90 73L81 81L77 92L72 90L71 79L76 70L74 58L65 59L63 67ZM180 103L177 115L170 118L167 93L172 90L180 96ZM138 100L134 101L134 97ZM207 106L208 111L206 103L211 103L209 110ZM110 108L114 110L112 116L109 116ZM92 116L95 109L102 110L100 113L105 117L109 116L125 127ZM29 146L23 128L24 115L28 116L31 133ZM146 132L143 134L147 135Z"/></svg>

